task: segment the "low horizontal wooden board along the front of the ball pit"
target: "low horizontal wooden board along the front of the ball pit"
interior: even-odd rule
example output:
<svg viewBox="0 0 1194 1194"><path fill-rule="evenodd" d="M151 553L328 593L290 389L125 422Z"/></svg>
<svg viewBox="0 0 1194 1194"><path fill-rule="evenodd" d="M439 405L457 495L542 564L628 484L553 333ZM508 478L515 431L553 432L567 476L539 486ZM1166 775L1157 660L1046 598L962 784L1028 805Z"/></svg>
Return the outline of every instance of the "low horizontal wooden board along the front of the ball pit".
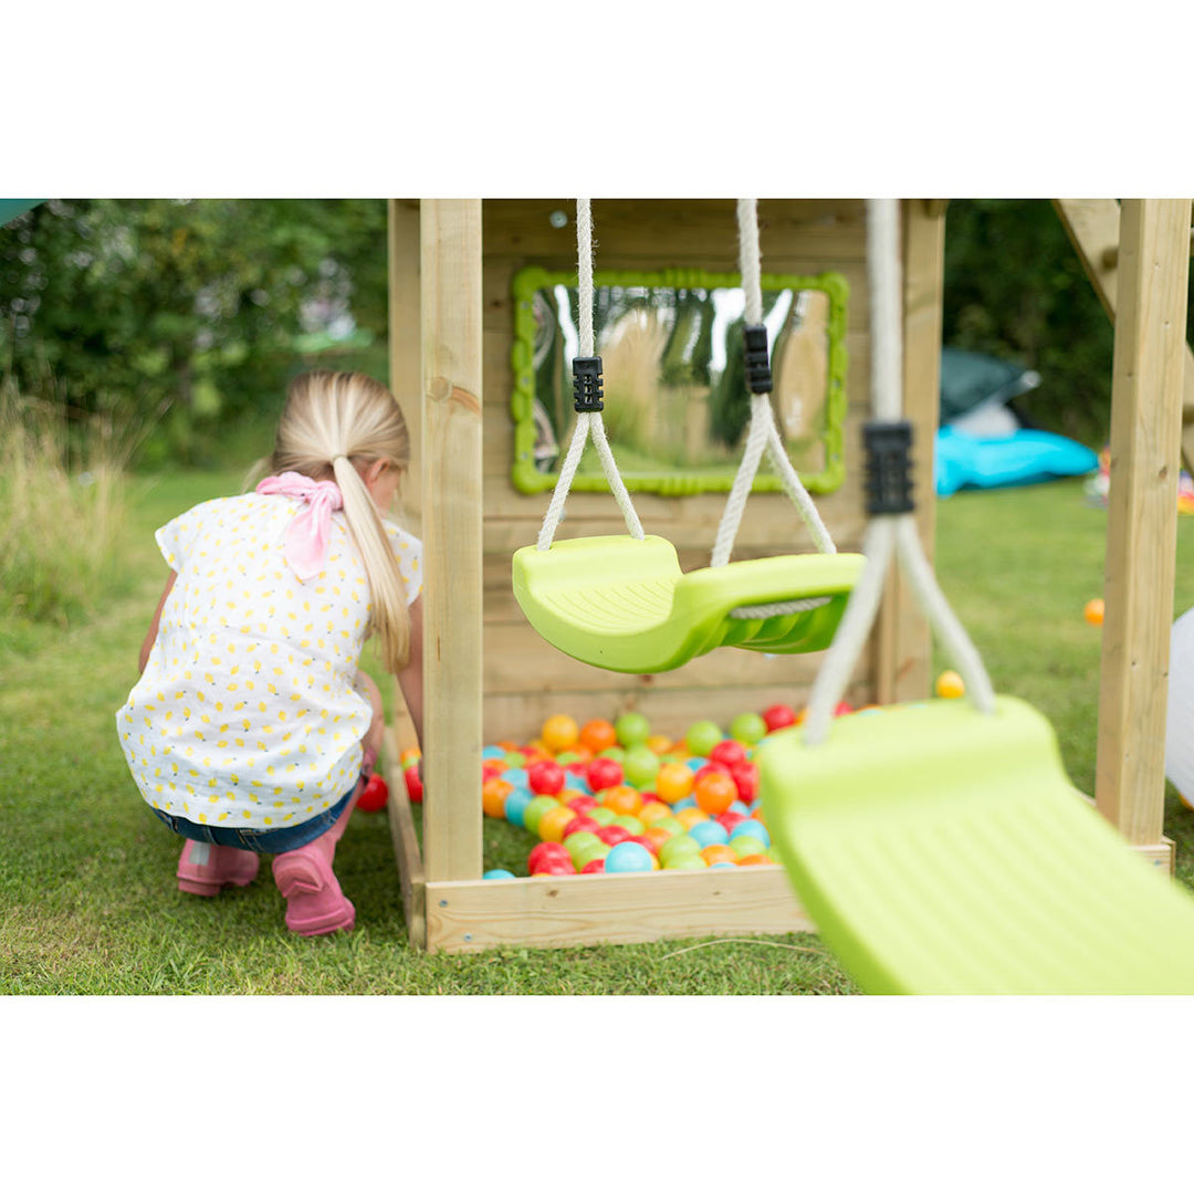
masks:
<svg viewBox="0 0 1194 1194"><path fill-rule="evenodd" d="M430 882L427 949L811 933L782 867Z"/></svg>

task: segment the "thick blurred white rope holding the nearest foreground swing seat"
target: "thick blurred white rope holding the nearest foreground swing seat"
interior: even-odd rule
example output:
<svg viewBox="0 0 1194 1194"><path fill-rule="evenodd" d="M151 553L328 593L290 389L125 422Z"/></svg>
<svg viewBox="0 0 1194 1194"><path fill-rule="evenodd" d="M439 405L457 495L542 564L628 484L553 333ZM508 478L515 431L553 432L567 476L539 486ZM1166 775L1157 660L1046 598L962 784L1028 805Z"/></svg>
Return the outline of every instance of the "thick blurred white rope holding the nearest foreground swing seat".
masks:
<svg viewBox="0 0 1194 1194"><path fill-rule="evenodd" d="M894 421L899 419L904 406L898 201L867 201L867 235L872 400L875 419ZM829 736L833 710L845 693L879 611L893 555L903 565L924 616L965 681L967 695L974 707L980 713L993 713L995 689L991 679L925 559L915 517L910 513L874 516L867 527L862 553L867 558L862 576L850 593L837 634L808 697L805 741L816 746Z"/></svg>

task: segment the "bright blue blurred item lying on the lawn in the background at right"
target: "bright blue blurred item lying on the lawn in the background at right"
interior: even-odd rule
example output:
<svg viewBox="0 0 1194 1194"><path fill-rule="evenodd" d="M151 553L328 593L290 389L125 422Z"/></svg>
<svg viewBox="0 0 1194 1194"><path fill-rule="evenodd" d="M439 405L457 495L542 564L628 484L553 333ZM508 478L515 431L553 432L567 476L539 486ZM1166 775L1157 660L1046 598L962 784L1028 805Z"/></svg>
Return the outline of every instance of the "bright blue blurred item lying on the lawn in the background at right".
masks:
<svg viewBox="0 0 1194 1194"><path fill-rule="evenodd" d="M989 490L1082 476L1098 468L1089 448L1050 431L1022 429L999 439L973 439L952 427L937 432L937 497L967 486Z"/></svg>

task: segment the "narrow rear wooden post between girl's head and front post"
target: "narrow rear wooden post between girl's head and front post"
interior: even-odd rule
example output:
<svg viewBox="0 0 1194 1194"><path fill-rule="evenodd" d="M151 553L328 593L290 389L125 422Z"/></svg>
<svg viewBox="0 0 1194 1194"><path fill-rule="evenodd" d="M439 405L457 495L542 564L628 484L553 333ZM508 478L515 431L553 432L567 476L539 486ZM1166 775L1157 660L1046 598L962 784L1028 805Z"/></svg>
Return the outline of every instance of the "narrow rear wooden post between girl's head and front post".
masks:
<svg viewBox="0 0 1194 1194"><path fill-rule="evenodd" d="M389 388L402 407L411 433L411 467L402 479L402 525L423 537L423 404L419 401L419 204L417 199L390 199L387 241L389 252Z"/></svg>

